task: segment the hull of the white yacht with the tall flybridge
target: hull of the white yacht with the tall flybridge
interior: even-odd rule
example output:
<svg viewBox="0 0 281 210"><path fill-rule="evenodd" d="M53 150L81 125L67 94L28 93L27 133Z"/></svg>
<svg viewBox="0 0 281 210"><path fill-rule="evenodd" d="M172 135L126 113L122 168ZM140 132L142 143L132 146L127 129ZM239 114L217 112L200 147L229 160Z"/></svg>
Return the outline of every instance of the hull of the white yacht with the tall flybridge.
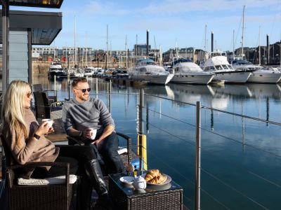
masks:
<svg viewBox="0 0 281 210"><path fill-rule="evenodd" d="M247 71L224 71L214 72L213 80L224 80L225 83L246 83L251 72Z"/></svg>

